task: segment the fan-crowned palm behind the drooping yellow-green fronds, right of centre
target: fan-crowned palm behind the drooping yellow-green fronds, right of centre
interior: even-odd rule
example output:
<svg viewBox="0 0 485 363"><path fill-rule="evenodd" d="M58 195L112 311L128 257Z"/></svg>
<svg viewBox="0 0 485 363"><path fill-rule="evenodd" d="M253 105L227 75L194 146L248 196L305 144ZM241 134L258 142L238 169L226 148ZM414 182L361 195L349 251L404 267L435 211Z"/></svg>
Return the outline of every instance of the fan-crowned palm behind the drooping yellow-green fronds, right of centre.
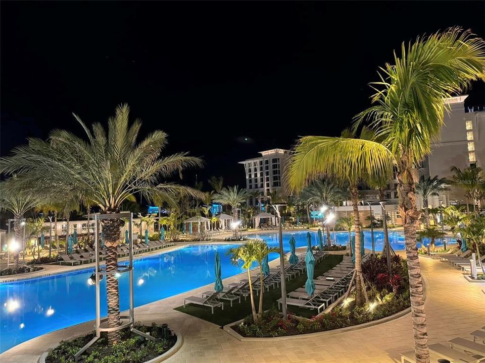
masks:
<svg viewBox="0 0 485 363"><path fill-rule="evenodd" d="M302 190L300 198L307 203L316 206L334 206L338 204L343 195L344 191L342 187L338 185L335 180L326 178L313 180L310 185ZM330 247L332 241L330 238L330 225L328 223L325 225L325 230L327 234L327 244L328 247Z"/></svg>

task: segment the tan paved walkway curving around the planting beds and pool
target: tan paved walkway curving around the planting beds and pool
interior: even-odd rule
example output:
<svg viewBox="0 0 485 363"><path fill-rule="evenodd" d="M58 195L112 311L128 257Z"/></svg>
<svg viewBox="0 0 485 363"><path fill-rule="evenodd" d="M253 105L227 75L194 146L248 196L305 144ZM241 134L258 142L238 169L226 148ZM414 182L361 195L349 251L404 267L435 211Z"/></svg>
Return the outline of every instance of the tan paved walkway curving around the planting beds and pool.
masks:
<svg viewBox="0 0 485 363"><path fill-rule="evenodd" d="M469 283L450 265L421 258L427 284L426 316L429 343L467 336L485 322L485 283ZM226 283L235 280L231 277ZM174 311L182 296L207 290L204 286L184 294L153 302L135 309L137 321L168 323L183 334L182 348L169 363L258 363L320 362L374 363L393 362L399 352L413 347L410 315L373 327L337 333L330 337L301 338L276 342L240 342L218 326ZM63 338L92 330L85 323L32 339L0 355L3 363L36 362L40 353Z"/></svg>

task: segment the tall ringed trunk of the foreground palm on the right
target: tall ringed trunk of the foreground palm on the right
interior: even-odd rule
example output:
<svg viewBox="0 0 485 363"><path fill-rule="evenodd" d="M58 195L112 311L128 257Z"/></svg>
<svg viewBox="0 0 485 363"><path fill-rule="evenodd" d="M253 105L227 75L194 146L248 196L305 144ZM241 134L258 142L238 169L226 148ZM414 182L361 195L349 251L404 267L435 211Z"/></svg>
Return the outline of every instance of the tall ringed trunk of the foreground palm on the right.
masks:
<svg viewBox="0 0 485 363"><path fill-rule="evenodd" d="M408 167L407 160L402 161L398 173L399 210L403 219L404 238L406 243L406 261L409 273L409 290L411 297L411 320L413 322L414 350L417 363L429 363L428 333L424 311L423 282L416 247L416 221L420 212L416 207L413 169Z"/></svg>

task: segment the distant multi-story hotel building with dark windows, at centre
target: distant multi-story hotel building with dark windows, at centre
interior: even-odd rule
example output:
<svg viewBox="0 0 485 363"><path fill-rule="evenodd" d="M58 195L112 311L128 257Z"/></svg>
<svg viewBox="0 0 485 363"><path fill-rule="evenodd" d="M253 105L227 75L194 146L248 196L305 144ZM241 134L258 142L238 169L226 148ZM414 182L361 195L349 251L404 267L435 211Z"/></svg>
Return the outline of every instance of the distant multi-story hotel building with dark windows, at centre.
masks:
<svg viewBox="0 0 485 363"><path fill-rule="evenodd" d="M250 206L260 206L270 193L284 195L282 175L289 150L271 149L259 153L260 157L239 161L246 172L246 189L254 192L248 198Z"/></svg>

